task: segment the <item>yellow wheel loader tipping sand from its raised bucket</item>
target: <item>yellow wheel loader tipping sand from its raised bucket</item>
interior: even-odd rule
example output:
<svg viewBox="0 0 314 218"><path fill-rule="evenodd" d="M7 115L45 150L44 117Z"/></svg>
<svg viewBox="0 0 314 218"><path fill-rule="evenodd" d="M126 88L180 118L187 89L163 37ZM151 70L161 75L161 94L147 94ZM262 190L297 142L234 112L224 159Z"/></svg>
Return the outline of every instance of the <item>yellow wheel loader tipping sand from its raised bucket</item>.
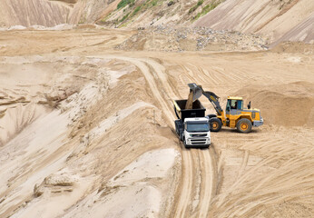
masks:
<svg viewBox="0 0 314 218"><path fill-rule="evenodd" d="M247 108L243 108L242 97L229 96L227 99L226 112L223 111L220 104L220 97L212 92L204 91L201 85L188 84L193 99L201 97L203 94L207 97L217 114L209 114L211 131L219 132L222 126L237 128L240 133L248 134L252 126L258 127L263 124L263 118L260 116L259 109L250 109L250 103ZM195 97L196 96L196 97Z"/></svg>

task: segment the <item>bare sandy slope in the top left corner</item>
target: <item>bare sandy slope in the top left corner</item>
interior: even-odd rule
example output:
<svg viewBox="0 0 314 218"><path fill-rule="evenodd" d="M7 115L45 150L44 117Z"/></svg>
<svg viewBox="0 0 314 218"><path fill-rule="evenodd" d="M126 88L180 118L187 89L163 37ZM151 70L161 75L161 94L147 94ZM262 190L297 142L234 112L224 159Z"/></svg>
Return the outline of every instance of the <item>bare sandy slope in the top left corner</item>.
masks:
<svg viewBox="0 0 314 218"><path fill-rule="evenodd" d="M111 3L108 0L3 0L0 27L93 24L103 13L115 9L107 8Z"/></svg>

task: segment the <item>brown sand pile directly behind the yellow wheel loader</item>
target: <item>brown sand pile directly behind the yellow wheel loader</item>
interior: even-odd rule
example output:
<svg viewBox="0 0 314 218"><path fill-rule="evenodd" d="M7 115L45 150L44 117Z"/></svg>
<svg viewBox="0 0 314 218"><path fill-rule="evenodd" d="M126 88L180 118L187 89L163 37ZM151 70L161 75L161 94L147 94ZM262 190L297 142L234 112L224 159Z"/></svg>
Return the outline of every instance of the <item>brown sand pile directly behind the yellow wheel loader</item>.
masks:
<svg viewBox="0 0 314 218"><path fill-rule="evenodd" d="M314 84L296 82L271 86L246 87L237 95L259 108L265 124L314 126Z"/></svg>

